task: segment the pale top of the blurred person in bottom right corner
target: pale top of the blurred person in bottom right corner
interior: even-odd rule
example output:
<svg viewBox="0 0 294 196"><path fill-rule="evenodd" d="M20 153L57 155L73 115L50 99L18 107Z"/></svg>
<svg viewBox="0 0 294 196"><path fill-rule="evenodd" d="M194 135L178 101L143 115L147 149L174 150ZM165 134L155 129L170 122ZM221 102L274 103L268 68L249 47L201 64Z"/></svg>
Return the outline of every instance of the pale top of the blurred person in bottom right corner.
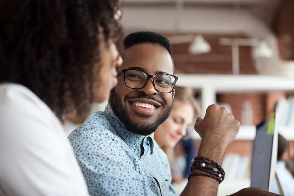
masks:
<svg viewBox="0 0 294 196"><path fill-rule="evenodd" d="M285 161L277 162L276 172L277 172L277 176L279 178L279 181L281 183L285 196L294 196L294 189L293 189L294 178L292 174L290 173L290 171L287 170ZM272 192L276 194L281 194L278 187L277 179L274 179L273 181Z"/></svg>

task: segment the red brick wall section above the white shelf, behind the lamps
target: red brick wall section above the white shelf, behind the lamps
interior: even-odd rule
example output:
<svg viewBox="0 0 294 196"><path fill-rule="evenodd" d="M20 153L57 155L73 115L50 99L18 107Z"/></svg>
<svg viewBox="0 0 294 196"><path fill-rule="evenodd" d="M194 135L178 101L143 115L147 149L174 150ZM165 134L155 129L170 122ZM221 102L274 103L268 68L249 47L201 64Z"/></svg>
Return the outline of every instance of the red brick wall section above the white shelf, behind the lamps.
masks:
<svg viewBox="0 0 294 196"><path fill-rule="evenodd" d="M175 69L181 73L231 74L232 49L230 46L220 45L220 37L232 36L204 36L205 40L211 45L209 54L190 55L188 52L189 43L173 44ZM240 74L256 74L251 58L251 47L239 47L239 57Z"/></svg>

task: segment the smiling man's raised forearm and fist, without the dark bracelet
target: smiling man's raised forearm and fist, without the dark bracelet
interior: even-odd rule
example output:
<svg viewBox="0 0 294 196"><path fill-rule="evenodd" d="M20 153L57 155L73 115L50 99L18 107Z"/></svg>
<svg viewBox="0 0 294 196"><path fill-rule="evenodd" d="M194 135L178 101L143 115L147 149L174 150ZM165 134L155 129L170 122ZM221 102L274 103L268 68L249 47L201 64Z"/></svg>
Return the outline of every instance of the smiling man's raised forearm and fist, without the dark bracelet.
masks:
<svg viewBox="0 0 294 196"><path fill-rule="evenodd" d="M221 165L227 146L239 132L240 123L226 108L213 104L207 108L203 119L197 119L194 128L202 138L198 156ZM196 169L195 172L199 171ZM181 196L216 196L218 184L213 178L191 176Z"/></svg>

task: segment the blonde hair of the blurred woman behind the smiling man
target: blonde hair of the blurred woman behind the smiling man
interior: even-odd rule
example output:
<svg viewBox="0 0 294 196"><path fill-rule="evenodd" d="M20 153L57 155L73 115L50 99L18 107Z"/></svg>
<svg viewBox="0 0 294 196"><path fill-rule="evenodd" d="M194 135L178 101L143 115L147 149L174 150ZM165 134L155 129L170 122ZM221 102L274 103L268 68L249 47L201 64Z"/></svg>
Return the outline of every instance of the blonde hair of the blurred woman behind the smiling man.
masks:
<svg viewBox="0 0 294 196"><path fill-rule="evenodd" d="M175 97L172 100L172 102L174 103L175 101L181 101L181 102L190 104L193 107L194 119L200 115L201 109L199 107L199 104L196 102L194 98L192 88L183 87L183 86L175 86Z"/></svg>

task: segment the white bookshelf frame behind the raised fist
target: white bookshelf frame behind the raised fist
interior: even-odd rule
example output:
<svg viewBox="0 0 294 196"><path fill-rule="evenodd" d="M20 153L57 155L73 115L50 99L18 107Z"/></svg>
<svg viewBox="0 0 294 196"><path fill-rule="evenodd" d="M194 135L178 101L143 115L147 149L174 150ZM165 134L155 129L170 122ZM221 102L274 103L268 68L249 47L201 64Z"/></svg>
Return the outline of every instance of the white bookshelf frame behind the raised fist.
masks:
<svg viewBox="0 0 294 196"><path fill-rule="evenodd" d="M263 75L179 74L179 86L189 86L201 92L202 116L205 109L216 103L217 93L294 91L294 78ZM294 140L294 127L281 127L279 132L288 140ZM253 140L255 126L241 126L237 140ZM200 139L197 134L195 139Z"/></svg>

